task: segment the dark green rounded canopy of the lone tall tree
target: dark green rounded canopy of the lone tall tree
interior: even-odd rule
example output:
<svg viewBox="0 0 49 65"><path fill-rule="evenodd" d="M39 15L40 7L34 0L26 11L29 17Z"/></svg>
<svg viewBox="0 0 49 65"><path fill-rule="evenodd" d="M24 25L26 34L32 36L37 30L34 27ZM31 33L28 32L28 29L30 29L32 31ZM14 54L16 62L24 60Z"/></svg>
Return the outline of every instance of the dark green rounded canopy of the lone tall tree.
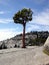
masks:
<svg viewBox="0 0 49 65"><path fill-rule="evenodd" d="M13 17L14 23L20 23L24 24L28 21L32 20L32 10L23 8L22 10L19 10Z"/></svg>

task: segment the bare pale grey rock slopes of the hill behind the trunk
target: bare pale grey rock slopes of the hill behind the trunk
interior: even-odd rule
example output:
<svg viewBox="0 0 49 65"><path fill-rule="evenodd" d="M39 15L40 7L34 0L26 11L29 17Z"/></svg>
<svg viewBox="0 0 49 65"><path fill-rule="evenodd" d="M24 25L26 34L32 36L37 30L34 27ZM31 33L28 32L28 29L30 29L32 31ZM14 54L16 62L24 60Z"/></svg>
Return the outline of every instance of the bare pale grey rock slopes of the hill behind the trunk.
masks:
<svg viewBox="0 0 49 65"><path fill-rule="evenodd" d="M28 45L29 39L35 39L35 38L37 38L36 35L26 35L25 36L26 45ZM7 48L13 48L13 47L15 47L15 45L17 47L22 47L22 35L21 36L17 35L15 37L11 38L11 39L7 39L7 40L4 40L4 41L1 41L0 42L0 46L3 45L3 42L4 42L4 45L7 46Z"/></svg>

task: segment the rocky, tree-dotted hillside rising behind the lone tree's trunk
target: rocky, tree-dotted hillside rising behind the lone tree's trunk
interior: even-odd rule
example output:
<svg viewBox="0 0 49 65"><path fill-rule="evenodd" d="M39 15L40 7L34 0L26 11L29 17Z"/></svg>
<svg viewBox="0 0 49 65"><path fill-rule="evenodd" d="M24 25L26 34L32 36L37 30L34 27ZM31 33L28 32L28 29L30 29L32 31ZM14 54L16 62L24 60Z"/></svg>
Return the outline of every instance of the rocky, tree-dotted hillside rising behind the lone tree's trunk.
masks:
<svg viewBox="0 0 49 65"><path fill-rule="evenodd" d="M30 32L25 35L26 46L38 45L41 46L44 44L45 40L49 36L48 31L41 32ZM21 47L22 46L22 34L16 35L13 38L0 41L0 49Z"/></svg>

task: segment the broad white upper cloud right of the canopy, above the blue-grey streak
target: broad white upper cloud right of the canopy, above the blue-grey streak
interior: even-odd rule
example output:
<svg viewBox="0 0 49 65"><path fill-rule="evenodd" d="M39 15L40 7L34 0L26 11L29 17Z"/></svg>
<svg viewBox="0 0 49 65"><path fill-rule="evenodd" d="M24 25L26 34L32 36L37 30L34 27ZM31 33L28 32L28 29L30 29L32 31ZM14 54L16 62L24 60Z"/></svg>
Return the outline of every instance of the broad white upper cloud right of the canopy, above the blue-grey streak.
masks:
<svg viewBox="0 0 49 65"><path fill-rule="evenodd" d="M33 21L30 23L49 25L49 9L34 15Z"/></svg>

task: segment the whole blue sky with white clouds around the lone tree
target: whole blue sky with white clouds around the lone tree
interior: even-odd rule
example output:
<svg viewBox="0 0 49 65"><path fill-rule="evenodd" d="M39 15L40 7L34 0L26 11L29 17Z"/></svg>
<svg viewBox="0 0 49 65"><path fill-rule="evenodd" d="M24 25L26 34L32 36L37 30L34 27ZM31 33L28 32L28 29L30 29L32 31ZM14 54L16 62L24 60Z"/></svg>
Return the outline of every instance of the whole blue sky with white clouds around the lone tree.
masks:
<svg viewBox="0 0 49 65"><path fill-rule="evenodd" d="M49 0L0 0L0 41L23 32L23 26L13 21L14 14L23 8L33 11L26 32L49 31Z"/></svg>

